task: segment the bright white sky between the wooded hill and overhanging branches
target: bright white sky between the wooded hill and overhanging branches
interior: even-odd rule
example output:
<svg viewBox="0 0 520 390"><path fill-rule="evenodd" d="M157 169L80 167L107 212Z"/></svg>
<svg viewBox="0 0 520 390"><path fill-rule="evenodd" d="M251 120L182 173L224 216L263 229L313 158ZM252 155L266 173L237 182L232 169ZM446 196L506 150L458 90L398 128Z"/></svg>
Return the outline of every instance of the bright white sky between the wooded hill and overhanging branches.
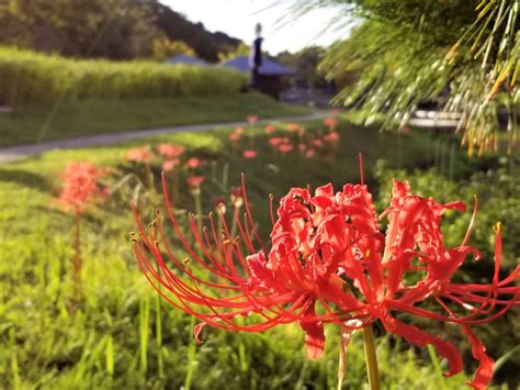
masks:
<svg viewBox="0 0 520 390"><path fill-rule="evenodd" d="M328 46L348 35L348 27L330 27L339 9L313 10L295 19L289 11L293 1L160 0L191 22L202 22L206 30L224 32L248 45L255 40L255 25L261 23L264 37L262 51L270 54L283 51L294 53L312 45Z"/></svg>

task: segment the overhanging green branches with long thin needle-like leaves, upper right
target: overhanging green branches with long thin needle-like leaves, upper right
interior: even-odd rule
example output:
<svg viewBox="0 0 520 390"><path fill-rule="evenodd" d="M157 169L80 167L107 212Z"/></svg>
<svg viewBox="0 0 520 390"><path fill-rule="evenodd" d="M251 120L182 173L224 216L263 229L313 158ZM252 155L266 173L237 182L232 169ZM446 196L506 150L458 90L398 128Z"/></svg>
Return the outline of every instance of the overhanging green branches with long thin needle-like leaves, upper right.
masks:
<svg viewBox="0 0 520 390"><path fill-rule="evenodd" d="M459 131L470 152L496 147L500 110L508 113L510 145L520 102L518 0L299 0L304 9L340 5L360 22L327 52L329 78L359 74L338 103L366 119L385 112L385 127L406 124L419 101L439 100L461 112Z"/></svg>

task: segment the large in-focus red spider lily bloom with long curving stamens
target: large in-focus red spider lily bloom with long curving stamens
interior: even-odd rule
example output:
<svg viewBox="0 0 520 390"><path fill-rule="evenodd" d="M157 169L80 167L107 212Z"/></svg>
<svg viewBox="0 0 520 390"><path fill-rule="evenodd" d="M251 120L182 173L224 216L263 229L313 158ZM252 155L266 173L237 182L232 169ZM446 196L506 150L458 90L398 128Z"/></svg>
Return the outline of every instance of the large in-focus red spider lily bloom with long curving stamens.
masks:
<svg viewBox="0 0 520 390"><path fill-rule="evenodd" d="M195 250L171 211L165 180L163 188L176 235L194 265L207 270L212 279L201 278L200 272L171 253L160 219L146 232L134 212L142 236L134 239L134 249L145 276L159 293L173 307L202 321L194 330L197 341L206 324L262 332L280 324L298 323L306 334L308 356L317 358L325 346L325 323L353 332L380 321L387 332L411 344L434 346L449 361L445 375L460 372L460 352L442 338L394 316L404 312L460 324L479 361L468 385L483 389L490 381L493 360L471 326L490 322L520 304L520 288L513 286L520 268L499 279L501 232L497 225L491 282L452 281L468 255L478 258L478 252L467 246L471 226L460 246L445 248L442 242L442 214L446 210L464 210L462 202L441 204L414 196L407 182L394 181L391 205L380 216L387 216L389 222L385 236L378 230L366 186L346 185L335 193L332 186L327 185L317 188L314 196L307 189L293 188L280 201L278 220L272 216L268 247L255 229L242 179L246 216L241 221L236 215L239 237L229 236L222 216L223 236L215 232L212 215L211 227L202 232L192 218ZM476 205L474 218L475 213ZM247 253L250 255L246 256ZM167 264L177 269L168 268ZM407 283L407 276L419 277L419 281ZM425 309L420 305L423 301L437 303L440 311ZM252 322L237 320L241 316L251 316Z"/></svg>

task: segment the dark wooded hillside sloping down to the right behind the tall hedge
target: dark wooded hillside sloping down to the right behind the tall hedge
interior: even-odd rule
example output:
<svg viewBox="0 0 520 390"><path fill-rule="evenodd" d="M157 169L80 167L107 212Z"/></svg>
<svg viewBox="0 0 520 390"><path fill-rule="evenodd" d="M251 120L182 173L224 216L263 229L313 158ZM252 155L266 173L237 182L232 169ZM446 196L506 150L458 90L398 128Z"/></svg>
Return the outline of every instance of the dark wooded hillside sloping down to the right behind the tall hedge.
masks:
<svg viewBox="0 0 520 390"><path fill-rule="evenodd" d="M211 33L158 1L0 1L0 44L75 57L150 57L154 42L168 38L216 62L240 41Z"/></svg>

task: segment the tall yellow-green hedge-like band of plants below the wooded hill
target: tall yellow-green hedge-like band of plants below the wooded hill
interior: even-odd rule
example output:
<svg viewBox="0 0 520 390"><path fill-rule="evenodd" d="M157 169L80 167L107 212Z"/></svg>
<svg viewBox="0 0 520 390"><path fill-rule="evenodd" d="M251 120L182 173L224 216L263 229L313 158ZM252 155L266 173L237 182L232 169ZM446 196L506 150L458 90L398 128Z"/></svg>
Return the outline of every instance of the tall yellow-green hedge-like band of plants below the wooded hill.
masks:
<svg viewBox="0 0 520 390"><path fill-rule="evenodd" d="M0 103L12 107L234 93L245 82L244 74L212 66L77 60L0 47Z"/></svg>

